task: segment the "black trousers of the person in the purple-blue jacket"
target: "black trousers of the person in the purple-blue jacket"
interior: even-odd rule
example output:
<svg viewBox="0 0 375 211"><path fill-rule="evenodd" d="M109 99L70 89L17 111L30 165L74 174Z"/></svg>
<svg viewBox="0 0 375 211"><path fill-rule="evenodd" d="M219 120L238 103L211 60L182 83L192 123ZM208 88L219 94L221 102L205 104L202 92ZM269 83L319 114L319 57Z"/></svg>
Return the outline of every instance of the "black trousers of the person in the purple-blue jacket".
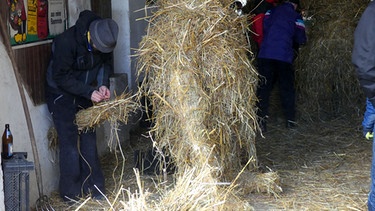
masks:
<svg viewBox="0 0 375 211"><path fill-rule="evenodd" d="M274 59L258 59L260 74L258 97L258 116L269 115L270 95L276 82L279 83L281 105L287 120L295 120L295 88L293 65Z"/></svg>

